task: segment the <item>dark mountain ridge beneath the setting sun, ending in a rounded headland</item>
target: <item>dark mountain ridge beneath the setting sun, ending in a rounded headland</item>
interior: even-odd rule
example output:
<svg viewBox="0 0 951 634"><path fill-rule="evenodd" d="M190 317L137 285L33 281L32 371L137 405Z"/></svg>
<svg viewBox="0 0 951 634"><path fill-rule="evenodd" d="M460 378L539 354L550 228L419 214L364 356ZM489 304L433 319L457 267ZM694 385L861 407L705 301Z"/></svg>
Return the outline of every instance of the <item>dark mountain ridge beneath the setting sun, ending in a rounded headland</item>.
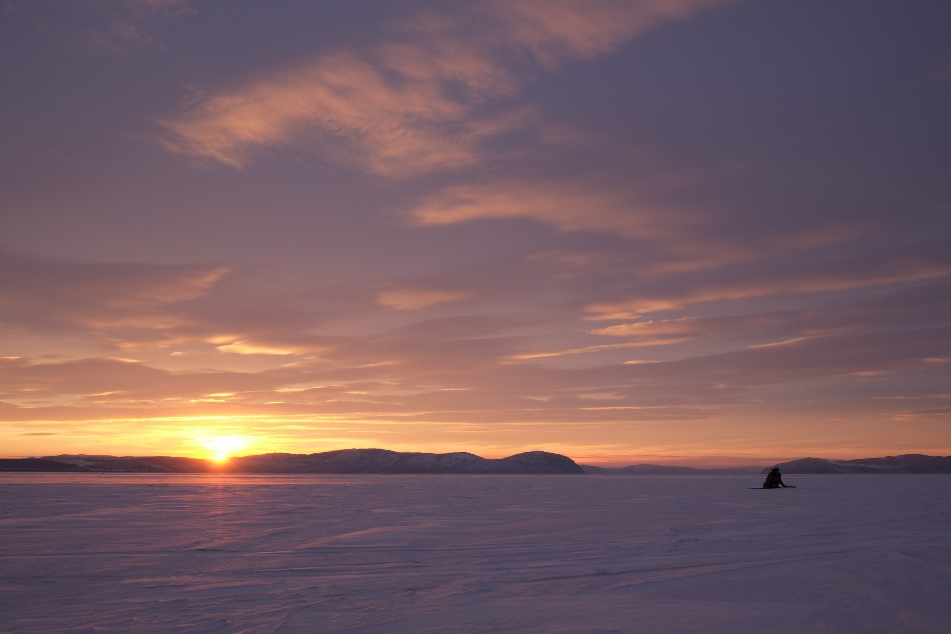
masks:
<svg viewBox="0 0 951 634"><path fill-rule="evenodd" d="M487 459L474 453L418 453L344 449L320 453L262 453L224 462L175 456L49 455L0 459L0 471L121 473L575 473L584 471L558 453L526 451Z"/></svg>

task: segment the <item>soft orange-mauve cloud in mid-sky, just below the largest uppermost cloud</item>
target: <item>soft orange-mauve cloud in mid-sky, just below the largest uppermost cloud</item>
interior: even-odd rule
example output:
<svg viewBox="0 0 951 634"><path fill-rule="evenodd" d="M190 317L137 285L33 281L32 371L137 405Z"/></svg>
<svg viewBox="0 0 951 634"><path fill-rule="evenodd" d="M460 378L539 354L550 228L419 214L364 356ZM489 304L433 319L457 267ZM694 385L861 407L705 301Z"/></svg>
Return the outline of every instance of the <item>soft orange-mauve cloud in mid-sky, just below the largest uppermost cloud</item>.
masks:
<svg viewBox="0 0 951 634"><path fill-rule="evenodd" d="M526 177L452 184L410 205L406 216L413 224L429 227L533 221L562 234L604 234L630 242L614 250L552 250L528 257L561 269L559 275L568 278L586 271L607 277L623 273L631 279L702 272L820 249L862 234L843 221L792 223L780 233L750 226L740 210L711 213L698 188L735 182L744 169L735 163L675 169L639 160L603 170L610 176L581 169L561 180Z"/></svg>

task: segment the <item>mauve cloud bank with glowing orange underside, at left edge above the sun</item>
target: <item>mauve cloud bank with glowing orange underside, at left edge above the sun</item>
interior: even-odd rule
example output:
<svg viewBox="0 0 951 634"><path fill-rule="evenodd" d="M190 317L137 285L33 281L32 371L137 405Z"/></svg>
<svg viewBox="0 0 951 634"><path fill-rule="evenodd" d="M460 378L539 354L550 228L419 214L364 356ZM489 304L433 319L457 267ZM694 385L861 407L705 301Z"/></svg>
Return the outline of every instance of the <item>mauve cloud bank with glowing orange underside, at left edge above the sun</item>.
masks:
<svg viewBox="0 0 951 634"><path fill-rule="evenodd" d="M149 264L0 252L0 337L78 336L102 349L172 346L243 355L307 355L333 337L328 315L373 308L370 291L321 289L320 301L275 290L221 263ZM167 352L163 353L167 354Z"/></svg>

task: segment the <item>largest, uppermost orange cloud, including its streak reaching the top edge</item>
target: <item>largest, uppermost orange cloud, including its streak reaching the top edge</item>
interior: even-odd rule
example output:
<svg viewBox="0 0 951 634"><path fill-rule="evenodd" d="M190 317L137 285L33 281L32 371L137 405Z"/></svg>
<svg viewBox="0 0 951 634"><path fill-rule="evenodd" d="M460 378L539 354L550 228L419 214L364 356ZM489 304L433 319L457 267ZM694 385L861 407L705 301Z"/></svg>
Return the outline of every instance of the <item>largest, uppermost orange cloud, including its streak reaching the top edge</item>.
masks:
<svg viewBox="0 0 951 634"><path fill-rule="evenodd" d="M456 14L422 12L387 42L264 74L163 119L162 143L233 167L262 147L301 139L387 177L471 166L490 157L483 142L525 125L517 109L480 107L527 81L513 61L527 57L553 70L720 4L518 0L456 7Z"/></svg>

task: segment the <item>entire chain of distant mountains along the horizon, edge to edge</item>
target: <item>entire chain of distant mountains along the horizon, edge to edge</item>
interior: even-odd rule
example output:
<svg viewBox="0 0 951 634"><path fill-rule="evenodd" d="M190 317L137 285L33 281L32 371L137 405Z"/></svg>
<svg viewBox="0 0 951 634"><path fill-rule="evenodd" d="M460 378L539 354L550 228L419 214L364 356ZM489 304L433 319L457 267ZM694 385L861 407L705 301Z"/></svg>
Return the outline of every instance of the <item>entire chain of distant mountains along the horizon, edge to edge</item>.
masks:
<svg viewBox="0 0 951 634"><path fill-rule="evenodd" d="M951 456L906 453L883 458L826 460L802 458L783 462L783 473L951 473ZM399 452L344 449L320 453L262 453L225 462L176 456L112 456L63 454L42 458L0 458L0 471L70 471L114 473L495 473L597 475L745 475L770 467L694 469L670 465L595 467L578 465L568 456L526 451L507 458L487 459L474 453Z"/></svg>

